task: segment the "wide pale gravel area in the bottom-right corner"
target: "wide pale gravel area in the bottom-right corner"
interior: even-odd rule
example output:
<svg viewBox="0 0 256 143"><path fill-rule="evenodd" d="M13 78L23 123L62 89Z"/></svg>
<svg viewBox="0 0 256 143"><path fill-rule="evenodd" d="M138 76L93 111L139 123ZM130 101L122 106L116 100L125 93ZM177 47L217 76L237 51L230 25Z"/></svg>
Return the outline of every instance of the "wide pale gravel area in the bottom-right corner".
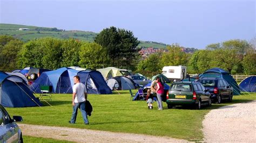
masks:
<svg viewBox="0 0 256 143"><path fill-rule="evenodd" d="M256 101L211 110L203 132L206 142L256 142Z"/></svg>

